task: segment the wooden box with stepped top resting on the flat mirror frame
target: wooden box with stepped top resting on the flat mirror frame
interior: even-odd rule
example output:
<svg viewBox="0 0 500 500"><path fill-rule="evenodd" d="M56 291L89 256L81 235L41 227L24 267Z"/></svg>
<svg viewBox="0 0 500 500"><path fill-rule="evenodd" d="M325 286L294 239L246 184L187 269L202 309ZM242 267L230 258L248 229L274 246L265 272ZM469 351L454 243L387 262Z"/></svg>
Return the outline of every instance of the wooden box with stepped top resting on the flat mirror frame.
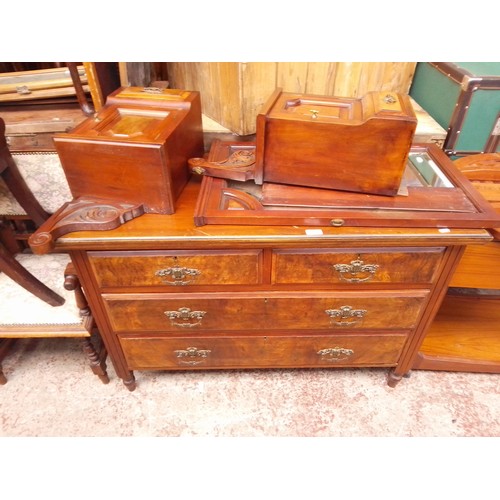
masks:
<svg viewBox="0 0 500 500"><path fill-rule="evenodd" d="M417 119L409 97L282 92L257 116L255 182L397 194Z"/></svg>

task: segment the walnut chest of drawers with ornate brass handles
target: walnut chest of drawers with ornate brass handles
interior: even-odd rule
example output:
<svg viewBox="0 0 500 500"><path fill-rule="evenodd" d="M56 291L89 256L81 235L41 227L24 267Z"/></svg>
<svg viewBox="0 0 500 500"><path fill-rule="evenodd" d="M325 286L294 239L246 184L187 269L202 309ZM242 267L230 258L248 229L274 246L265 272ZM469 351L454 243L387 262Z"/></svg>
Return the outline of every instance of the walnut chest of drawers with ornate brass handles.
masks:
<svg viewBox="0 0 500 500"><path fill-rule="evenodd" d="M482 229L200 228L198 191L192 179L173 215L56 240L130 390L139 370L319 367L380 367L394 387L465 246L491 238Z"/></svg>

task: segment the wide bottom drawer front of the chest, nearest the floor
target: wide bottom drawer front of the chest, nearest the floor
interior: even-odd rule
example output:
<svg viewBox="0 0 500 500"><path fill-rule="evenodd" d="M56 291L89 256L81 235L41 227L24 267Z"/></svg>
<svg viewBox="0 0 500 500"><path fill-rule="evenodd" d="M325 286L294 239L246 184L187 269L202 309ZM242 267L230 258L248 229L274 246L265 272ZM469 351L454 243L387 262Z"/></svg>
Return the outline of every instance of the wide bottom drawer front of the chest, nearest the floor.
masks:
<svg viewBox="0 0 500 500"><path fill-rule="evenodd" d="M132 370L394 366L404 334L228 336L193 339L121 335Z"/></svg>

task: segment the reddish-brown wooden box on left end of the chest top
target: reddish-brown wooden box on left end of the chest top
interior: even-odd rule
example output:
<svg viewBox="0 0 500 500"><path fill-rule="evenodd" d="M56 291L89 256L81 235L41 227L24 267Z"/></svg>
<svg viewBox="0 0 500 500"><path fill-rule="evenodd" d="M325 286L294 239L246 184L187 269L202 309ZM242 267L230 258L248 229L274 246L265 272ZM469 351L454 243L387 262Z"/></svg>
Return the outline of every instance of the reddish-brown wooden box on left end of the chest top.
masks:
<svg viewBox="0 0 500 500"><path fill-rule="evenodd" d="M175 212L189 180L187 159L204 151L200 94L158 90L118 89L96 116L55 135L73 197Z"/></svg>

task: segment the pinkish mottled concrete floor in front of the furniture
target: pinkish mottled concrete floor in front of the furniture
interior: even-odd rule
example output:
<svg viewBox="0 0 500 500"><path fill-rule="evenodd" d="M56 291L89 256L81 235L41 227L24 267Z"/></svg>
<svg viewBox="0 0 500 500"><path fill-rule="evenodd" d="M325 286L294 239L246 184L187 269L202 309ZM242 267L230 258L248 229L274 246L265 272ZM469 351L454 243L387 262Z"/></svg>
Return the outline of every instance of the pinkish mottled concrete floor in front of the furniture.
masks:
<svg viewBox="0 0 500 500"><path fill-rule="evenodd" d="M500 377L386 369L136 372L104 385L78 339L19 339L0 436L500 436Z"/></svg>

